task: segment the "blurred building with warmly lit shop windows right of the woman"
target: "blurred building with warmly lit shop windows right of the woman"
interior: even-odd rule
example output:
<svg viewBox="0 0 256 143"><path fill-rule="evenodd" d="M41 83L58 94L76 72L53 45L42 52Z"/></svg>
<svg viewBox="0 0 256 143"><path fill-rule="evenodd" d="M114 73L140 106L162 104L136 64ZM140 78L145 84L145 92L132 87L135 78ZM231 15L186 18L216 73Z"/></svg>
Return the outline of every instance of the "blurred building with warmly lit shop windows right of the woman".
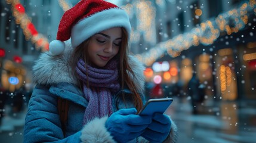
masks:
<svg viewBox="0 0 256 143"><path fill-rule="evenodd" d="M157 46L169 39L174 39L172 42L178 43L179 36L192 33L197 27L202 28L207 25L207 21L215 22L217 18L234 13L234 11L239 11L238 14L242 14L241 8L252 5L254 9L245 11L246 14L242 14L243 16L228 15L230 18L228 18L227 23L230 24L224 24L226 27L222 31L218 30L217 36L209 35L210 38L215 36L214 40L205 42L201 38L198 43L194 43L192 46L180 47L182 50L172 49L159 56L155 62L162 64L163 61L168 61L169 71L149 74L153 63L146 64L146 66L149 67L147 80L152 82L155 75L161 75L163 90L167 96L175 96L174 94L177 92L173 90L177 89L175 88L177 86L182 86L178 95L187 96L189 90L187 83L193 72L196 72L201 83L206 86L205 98L211 100L256 99L256 83L253 80L256 72L255 1L169 0L140 2L152 6L154 13L151 15L155 16L150 18L155 21L155 33L153 34L155 36L152 37L156 41L141 42L145 33L143 30L140 31L139 36L137 36L137 39L140 40L132 43L131 51L134 53L147 53L152 47L157 51ZM133 7L135 7L134 3L132 3ZM140 8L138 5L137 8ZM140 26L138 18L131 16L131 20L132 27L138 29ZM243 20L244 27L238 30L239 20ZM212 29L210 28L210 30ZM207 35L205 39L207 39ZM180 40L179 42L183 46L182 42L186 41Z"/></svg>

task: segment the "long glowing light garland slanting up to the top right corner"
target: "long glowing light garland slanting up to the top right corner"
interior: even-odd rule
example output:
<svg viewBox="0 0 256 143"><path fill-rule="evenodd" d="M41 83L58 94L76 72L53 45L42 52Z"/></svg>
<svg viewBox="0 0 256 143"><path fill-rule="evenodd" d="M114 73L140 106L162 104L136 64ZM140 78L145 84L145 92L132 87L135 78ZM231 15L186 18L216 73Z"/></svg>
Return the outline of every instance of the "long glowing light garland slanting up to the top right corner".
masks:
<svg viewBox="0 0 256 143"><path fill-rule="evenodd" d="M149 52L137 54L136 57L146 66L150 66L165 52L171 57L177 57L181 51L189 49L191 46L198 46L199 43L211 45L220 36L220 32L231 35L243 29L248 24L248 13L251 12L256 14L255 0L249 0L249 2L240 5L238 9L220 14L214 20L207 20L205 23L201 23L200 27L193 28L189 33L160 42L155 47L150 48Z"/></svg>

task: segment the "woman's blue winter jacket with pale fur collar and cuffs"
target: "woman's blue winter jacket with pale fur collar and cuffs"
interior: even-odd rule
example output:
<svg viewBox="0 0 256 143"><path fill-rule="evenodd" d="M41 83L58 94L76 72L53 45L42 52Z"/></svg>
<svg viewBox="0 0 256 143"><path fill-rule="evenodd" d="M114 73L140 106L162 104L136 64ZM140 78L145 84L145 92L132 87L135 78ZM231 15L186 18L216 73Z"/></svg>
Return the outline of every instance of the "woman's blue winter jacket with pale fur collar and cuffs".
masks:
<svg viewBox="0 0 256 143"><path fill-rule="evenodd" d="M88 101L85 100L83 92L69 73L70 52L72 47L69 41L66 42L66 49L63 55L53 56L49 52L41 54L39 60L33 67L33 76L36 83L32 97L29 101L26 121L24 125L24 142L115 142L113 137L105 128L108 117L94 119L87 125L82 126L85 108ZM136 84L137 90L143 93L144 88L144 67L134 57L129 57L129 64L133 68L135 77L131 77ZM131 108L132 103L127 99L128 104L124 105L119 95L130 94L128 90L119 91L112 96L112 110ZM58 114L58 97L69 100L68 120L66 134L61 130L60 117ZM129 97L129 96L125 96ZM141 96L144 101L144 97ZM172 121L171 132L166 142L176 141L177 128ZM148 142L143 137L134 139L131 142Z"/></svg>

